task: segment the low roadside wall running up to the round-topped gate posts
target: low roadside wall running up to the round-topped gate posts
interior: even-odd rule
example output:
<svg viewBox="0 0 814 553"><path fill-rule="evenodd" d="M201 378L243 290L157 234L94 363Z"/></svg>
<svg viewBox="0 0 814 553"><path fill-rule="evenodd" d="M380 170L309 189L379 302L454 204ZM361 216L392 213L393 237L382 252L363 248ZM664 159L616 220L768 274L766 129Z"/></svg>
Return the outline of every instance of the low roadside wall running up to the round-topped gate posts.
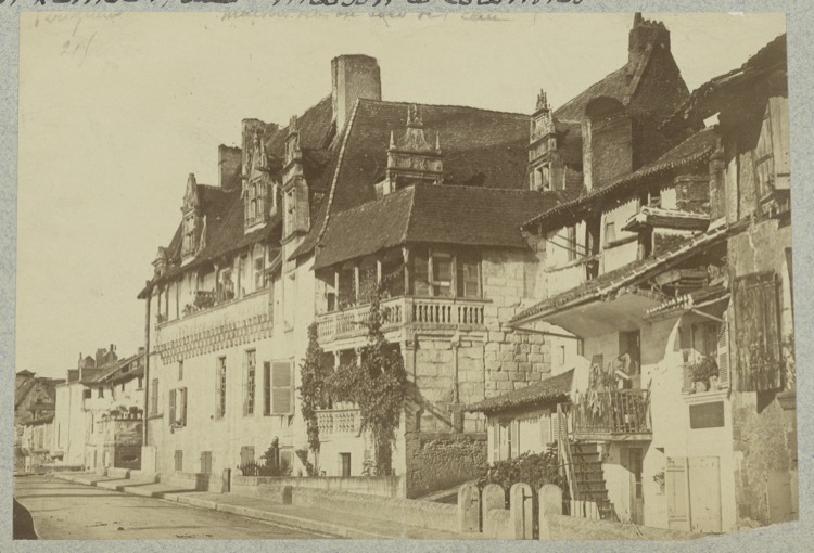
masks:
<svg viewBox="0 0 814 553"><path fill-rule="evenodd" d="M313 488L293 488L291 500L294 505L353 513L378 520L398 520L419 528L449 531L457 527L458 507L431 501L379 498Z"/></svg>

